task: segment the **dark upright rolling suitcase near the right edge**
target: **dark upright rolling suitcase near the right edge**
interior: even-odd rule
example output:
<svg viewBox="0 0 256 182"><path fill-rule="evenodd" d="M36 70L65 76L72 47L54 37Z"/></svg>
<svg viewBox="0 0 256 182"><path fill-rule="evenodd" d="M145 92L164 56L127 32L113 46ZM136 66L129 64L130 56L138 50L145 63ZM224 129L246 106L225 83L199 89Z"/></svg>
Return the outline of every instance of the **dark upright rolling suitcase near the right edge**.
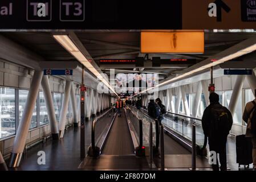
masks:
<svg viewBox="0 0 256 182"><path fill-rule="evenodd" d="M237 149L237 163L238 169L241 169L241 165L249 168L249 165L253 163L253 144L251 138L246 138L245 135L238 135L236 137L236 149Z"/></svg>

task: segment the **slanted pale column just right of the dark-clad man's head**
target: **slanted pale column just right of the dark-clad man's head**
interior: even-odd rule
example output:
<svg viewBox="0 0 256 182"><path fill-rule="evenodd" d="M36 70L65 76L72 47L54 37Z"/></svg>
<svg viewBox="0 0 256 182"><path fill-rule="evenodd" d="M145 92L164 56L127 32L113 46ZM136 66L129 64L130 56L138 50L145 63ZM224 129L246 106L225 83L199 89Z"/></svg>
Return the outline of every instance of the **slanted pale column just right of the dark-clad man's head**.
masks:
<svg viewBox="0 0 256 182"><path fill-rule="evenodd" d="M243 81L245 81L245 75L238 75L237 80L235 81L232 96L230 98L229 110L233 116L237 107L239 94L242 92Z"/></svg>

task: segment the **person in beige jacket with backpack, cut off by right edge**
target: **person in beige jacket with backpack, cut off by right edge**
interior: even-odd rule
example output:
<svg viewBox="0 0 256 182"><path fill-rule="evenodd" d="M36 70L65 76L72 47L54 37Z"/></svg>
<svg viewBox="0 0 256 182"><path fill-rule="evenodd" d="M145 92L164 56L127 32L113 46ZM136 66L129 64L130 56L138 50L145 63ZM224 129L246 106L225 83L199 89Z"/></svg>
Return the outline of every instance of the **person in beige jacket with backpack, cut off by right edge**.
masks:
<svg viewBox="0 0 256 182"><path fill-rule="evenodd" d="M247 123L245 137L251 138L253 144L253 169L256 170L256 89L255 100L248 102L243 111L243 121Z"/></svg>

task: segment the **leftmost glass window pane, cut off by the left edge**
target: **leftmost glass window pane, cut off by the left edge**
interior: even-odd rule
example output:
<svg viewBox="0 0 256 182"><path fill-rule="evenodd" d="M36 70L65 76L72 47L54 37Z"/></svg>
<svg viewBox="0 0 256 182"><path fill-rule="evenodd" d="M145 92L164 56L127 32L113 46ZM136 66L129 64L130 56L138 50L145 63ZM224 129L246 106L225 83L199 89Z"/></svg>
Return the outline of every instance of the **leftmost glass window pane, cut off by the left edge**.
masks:
<svg viewBox="0 0 256 182"><path fill-rule="evenodd" d="M15 89L0 88L0 138L15 134Z"/></svg>

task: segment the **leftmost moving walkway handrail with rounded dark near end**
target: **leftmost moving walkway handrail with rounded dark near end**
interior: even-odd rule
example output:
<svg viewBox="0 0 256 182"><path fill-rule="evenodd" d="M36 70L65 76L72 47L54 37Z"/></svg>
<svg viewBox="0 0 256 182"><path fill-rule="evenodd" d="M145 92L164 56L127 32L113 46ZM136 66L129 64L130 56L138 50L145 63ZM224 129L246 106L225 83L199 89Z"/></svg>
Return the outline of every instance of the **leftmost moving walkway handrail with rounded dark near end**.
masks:
<svg viewBox="0 0 256 182"><path fill-rule="evenodd" d="M92 157L98 157L100 155L100 152L102 150L102 148L104 147L104 143L106 142L107 140L107 137L108 137L108 133L109 133L109 130L111 129L112 127L112 124L113 124L113 121L116 117L116 113L117 112L114 112L114 115L113 115L113 118L112 118L112 121L111 121L111 125L109 126L108 128L108 131L107 131L107 134L105 135L105 138L103 140L103 142L100 144L100 147L97 147L96 146L96 142L95 142L95 129L96 129L96 123L103 117L105 117L105 115L107 115L109 112L113 111L113 107L111 107L111 109L105 111L105 113L101 114L99 117L96 117L94 119L94 121L92 121L92 129L91 129L91 146L89 147L88 149L88 155L89 156L92 156ZM109 117L111 117L111 114L109 113Z"/></svg>

